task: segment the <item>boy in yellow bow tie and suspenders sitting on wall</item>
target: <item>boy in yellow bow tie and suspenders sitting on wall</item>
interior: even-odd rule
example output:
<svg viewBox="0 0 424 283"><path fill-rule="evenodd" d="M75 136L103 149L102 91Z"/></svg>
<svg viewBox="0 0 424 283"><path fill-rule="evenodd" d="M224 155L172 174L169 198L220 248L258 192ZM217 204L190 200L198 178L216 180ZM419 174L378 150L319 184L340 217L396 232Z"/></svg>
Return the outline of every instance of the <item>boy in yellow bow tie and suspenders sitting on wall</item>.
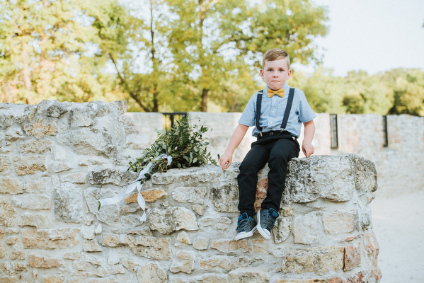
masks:
<svg viewBox="0 0 424 283"><path fill-rule="evenodd" d="M229 168L234 149L239 146L248 127L253 128L257 141L246 154L237 176L239 183L239 211L236 240L253 235L256 229L266 239L271 238L271 229L279 216L282 192L285 190L287 163L299 156L297 137L304 124L302 151L306 157L314 154L311 144L315 133L313 119L316 117L303 91L290 88L290 57L285 50L271 49L263 55L260 76L266 88L249 100L239 125L234 130L227 149L219 158L222 170ZM285 113L287 112L287 114ZM258 171L268 162L268 192L256 214L253 204L256 197Z"/></svg>

